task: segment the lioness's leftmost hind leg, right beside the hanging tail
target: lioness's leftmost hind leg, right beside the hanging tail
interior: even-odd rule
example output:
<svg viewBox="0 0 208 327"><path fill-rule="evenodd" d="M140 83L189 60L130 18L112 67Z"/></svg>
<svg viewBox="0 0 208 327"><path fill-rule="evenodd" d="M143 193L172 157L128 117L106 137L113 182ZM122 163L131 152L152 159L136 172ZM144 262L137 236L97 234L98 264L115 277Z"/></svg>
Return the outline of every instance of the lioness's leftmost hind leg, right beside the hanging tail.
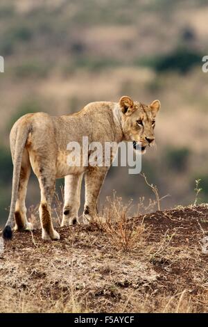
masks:
<svg viewBox="0 0 208 327"><path fill-rule="evenodd" d="M19 189L17 202L15 205L15 230L32 230L33 225L29 223L26 218L26 191L28 180L31 174L31 165L28 157L28 152L25 149L22 161L21 161L21 172L19 175Z"/></svg>

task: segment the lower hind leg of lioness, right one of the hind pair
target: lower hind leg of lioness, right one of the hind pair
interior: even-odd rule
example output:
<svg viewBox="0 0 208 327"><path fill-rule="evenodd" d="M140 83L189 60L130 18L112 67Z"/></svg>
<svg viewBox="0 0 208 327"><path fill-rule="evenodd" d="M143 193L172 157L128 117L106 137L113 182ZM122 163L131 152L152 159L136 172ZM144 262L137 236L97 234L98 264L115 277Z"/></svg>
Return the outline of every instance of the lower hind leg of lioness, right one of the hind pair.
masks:
<svg viewBox="0 0 208 327"><path fill-rule="evenodd" d="M41 202L39 212L40 222L42 225L42 239L60 239L60 235L54 230L51 220L51 202L53 200L53 193L55 190L55 178L42 175L38 180L41 189Z"/></svg>

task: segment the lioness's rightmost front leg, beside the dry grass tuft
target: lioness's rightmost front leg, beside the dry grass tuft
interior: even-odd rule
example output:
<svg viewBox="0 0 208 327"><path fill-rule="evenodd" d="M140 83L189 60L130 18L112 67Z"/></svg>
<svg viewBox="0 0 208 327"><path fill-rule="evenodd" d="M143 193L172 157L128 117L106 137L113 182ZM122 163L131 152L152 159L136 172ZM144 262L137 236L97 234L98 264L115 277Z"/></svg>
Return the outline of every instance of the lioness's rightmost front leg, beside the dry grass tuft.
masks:
<svg viewBox="0 0 208 327"><path fill-rule="evenodd" d="M108 168L89 168L85 175L85 208L83 212L83 223L95 221L98 217L96 205L101 187L105 180Z"/></svg>

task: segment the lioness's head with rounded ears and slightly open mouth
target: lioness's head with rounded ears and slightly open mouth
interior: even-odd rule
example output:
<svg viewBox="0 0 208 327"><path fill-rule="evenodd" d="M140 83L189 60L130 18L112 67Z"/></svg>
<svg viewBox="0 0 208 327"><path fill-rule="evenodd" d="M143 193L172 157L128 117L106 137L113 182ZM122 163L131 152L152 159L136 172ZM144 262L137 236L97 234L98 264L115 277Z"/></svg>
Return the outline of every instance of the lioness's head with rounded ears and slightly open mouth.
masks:
<svg viewBox="0 0 208 327"><path fill-rule="evenodd" d="M137 143L141 145L141 153L146 151L148 145L155 141L155 117L160 109L159 100L151 104L133 102L130 97L121 97L119 104L122 111L121 125L125 141L133 141L137 149Z"/></svg>

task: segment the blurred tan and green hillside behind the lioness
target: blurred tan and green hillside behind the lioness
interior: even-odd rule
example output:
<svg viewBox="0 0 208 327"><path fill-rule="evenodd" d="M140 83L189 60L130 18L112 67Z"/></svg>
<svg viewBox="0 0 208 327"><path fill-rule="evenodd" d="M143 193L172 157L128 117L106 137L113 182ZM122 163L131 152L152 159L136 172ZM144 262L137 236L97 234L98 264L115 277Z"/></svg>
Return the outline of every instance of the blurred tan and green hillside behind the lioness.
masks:
<svg viewBox="0 0 208 327"><path fill-rule="evenodd" d="M162 102L157 147L143 157L142 171L156 184L162 208L208 202L208 1L1 0L0 224L10 205L12 161L9 131L24 113L61 115L88 102L118 101L121 95L146 104ZM62 184L58 181L57 187ZM153 198L140 175L111 168L102 207L113 189L124 201ZM37 205L33 176L27 204Z"/></svg>

